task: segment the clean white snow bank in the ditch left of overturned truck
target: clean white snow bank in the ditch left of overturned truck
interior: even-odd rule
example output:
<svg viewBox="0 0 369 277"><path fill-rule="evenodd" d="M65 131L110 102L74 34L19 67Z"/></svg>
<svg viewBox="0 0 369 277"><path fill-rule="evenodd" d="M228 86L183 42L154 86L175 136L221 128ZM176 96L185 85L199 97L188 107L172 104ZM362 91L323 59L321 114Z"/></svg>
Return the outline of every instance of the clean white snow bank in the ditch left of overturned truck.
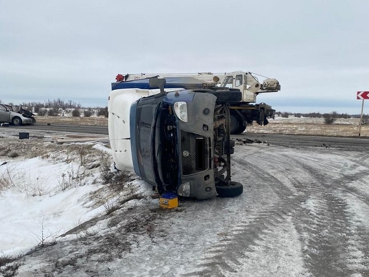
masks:
<svg viewBox="0 0 369 277"><path fill-rule="evenodd" d="M0 191L0 253L5 255L53 242L104 209L89 205L88 195L97 189L95 177L84 176L76 163L12 161L0 167L0 178L8 183Z"/></svg>

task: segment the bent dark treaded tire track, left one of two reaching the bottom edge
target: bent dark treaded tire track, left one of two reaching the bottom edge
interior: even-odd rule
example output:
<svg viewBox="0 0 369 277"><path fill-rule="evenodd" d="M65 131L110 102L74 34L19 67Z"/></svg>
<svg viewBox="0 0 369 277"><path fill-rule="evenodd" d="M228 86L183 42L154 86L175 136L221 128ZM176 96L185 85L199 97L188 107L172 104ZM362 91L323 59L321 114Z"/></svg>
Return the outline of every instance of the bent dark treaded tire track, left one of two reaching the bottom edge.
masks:
<svg viewBox="0 0 369 277"><path fill-rule="evenodd" d="M270 156L268 160L270 162ZM272 184L271 188L278 195L279 201L262 211L248 211L249 220L235 225L227 238L220 239L201 258L199 270L184 276L226 276L224 274L236 273L232 264L241 264L240 260L248 259L247 253L254 252L255 247L265 245L263 234L274 233L287 218L296 216L294 211L303 199L301 195L293 194L278 178L254 163L237 157L234 157L233 161L246 167L252 176L258 176L258 183ZM290 181L297 186L296 180L290 178Z"/></svg>

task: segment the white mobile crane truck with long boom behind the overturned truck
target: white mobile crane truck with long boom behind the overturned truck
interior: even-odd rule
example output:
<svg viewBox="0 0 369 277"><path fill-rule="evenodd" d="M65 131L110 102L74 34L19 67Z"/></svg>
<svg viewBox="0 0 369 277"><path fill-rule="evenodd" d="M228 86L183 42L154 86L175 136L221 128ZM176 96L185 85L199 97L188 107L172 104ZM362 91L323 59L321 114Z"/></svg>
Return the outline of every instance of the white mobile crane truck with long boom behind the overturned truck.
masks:
<svg viewBox="0 0 369 277"><path fill-rule="evenodd" d="M215 91L224 91L225 88L231 91L240 90L242 93L242 99L237 103L230 105L230 131L231 134L241 134L246 129L247 123L256 121L259 125L268 124L268 118L273 118L275 110L271 106L265 103L256 104L256 96L259 93L266 92L278 92L280 90L280 84L276 79L266 78L262 83L259 83L258 79L253 76L251 72L234 71L229 73L174 73L174 74L118 74L116 76L117 83L137 81L141 79L147 79L158 76L158 78L185 78L188 82L184 84L180 82L178 85L182 85L183 89L193 89L194 86L199 88L199 84L203 89L211 89ZM259 75L261 76L261 75ZM263 77L263 76L262 76ZM192 81L191 81L192 80ZM168 84L169 85L169 84ZM169 88L169 86L164 88ZM173 88L173 83L170 84ZM255 103L255 104L254 104Z"/></svg>

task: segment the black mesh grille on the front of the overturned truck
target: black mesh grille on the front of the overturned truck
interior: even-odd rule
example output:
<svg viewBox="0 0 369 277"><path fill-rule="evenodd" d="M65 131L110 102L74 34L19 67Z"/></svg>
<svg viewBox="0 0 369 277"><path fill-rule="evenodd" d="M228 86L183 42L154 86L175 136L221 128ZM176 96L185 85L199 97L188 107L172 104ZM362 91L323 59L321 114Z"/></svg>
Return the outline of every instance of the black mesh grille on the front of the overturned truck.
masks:
<svg viewBox="0 0 369 277"><path fill-rule="evenodd" d="M181 131L182 174L190 175L209 169L208 138Z"/></svg>

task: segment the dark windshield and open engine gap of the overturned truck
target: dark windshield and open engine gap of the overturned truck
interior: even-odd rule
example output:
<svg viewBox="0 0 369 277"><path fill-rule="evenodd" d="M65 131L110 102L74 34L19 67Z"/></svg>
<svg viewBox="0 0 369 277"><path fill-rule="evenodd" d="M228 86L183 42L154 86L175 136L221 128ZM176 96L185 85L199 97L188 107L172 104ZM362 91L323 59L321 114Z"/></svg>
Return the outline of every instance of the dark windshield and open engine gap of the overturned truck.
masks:
<svg viewBox="0 0 369 277"><path fill-rule="evenodd" d="M159 190L175 190L179 169L177 119L173 107L162 102L162 97L152 95L139 100L135 114L139 171L136 173L145 181L157 185Z"/></svg>

